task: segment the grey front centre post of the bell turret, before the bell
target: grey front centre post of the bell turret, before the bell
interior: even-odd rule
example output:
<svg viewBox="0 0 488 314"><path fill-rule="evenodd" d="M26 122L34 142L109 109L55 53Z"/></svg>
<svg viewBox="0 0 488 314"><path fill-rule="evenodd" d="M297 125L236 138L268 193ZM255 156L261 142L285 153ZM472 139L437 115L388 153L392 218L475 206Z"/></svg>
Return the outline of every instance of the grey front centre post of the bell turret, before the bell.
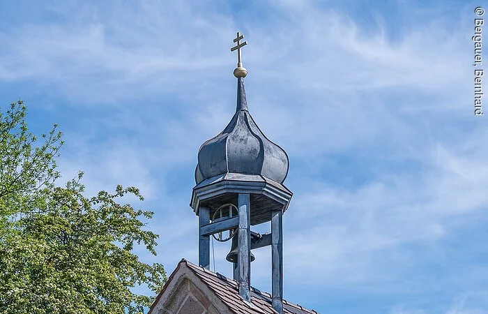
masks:
<svg viewBox="0 0 488 314"><path fill-rule="evenodd" d="M238 269L239 294L243 299L251 301L251 211L249 194L238 196L239 228L238 228Z"/></svg>

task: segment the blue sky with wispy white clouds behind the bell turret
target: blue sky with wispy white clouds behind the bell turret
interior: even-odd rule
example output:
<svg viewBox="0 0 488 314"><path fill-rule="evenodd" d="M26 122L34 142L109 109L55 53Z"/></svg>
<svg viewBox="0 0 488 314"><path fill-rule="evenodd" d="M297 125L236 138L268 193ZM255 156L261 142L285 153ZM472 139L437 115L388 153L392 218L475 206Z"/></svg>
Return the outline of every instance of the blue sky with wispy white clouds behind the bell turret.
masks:
<svg viewBox="0 0 488 314"><path fill-rule="evenodd" d="M137 186L169 273L197 262L197 151L236 102L290 158L284 296L320 313L488 313L488 127L472 1L1 1L1 107L56 123L63 180ZM60 182L61 184L61 182ZM257 231L268 230L261 225ZM215 268L231 277L229 244ZM270 252L252 285L270 290ZM212 265L213 267L213 265Z"/></svg>

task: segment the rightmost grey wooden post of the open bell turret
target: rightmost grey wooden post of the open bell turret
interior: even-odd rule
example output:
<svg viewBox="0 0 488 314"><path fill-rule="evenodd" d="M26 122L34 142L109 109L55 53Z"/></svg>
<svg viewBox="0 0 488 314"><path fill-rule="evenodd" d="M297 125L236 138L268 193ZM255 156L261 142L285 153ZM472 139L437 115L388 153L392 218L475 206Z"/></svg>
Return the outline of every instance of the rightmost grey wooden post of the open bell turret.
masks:
<svg viewBox="0 0 488 314"><path fill-rule="evenodd" d="M271 297L272 306L283 314L283 214L271 214Z"/></svg>

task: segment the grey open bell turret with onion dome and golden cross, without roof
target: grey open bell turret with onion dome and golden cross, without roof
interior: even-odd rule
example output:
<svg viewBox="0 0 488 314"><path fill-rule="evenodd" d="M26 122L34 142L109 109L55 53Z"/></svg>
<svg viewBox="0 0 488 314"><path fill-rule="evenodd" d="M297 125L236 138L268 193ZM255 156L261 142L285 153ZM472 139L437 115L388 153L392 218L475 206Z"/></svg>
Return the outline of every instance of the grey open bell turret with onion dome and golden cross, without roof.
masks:
<svg viewBox="0 0 488 314"><path fill-rule="evenodd" d="M283 313L282 217L293 193L283 185L287 153L261 132L247 107L241 49L247 42L237 33L236 113L220 134L204 142L198 152L196 186L190 206L199 216L199 265L209 269L210 237L232 240L227 260L241 297L251 302L251 250L271 247L272 306ZM251 231L252 225L271 222L270 233Z"/></svg>

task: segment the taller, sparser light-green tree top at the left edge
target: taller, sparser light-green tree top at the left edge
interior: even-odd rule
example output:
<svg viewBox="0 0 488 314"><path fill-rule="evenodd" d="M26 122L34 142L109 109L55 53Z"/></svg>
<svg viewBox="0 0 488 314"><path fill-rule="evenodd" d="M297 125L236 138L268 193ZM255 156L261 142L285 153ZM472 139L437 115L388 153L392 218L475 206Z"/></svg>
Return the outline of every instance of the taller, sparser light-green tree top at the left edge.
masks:
<svg viewBox="0 0 488 314"><path fill-rule="evenodd" d="M10 104L6 114L0 110L0 226L11 214L38 206L60 177L55 158L63 142L57 125L36 146L38 138L29 132L25 118L22 101Z"/></svg>

